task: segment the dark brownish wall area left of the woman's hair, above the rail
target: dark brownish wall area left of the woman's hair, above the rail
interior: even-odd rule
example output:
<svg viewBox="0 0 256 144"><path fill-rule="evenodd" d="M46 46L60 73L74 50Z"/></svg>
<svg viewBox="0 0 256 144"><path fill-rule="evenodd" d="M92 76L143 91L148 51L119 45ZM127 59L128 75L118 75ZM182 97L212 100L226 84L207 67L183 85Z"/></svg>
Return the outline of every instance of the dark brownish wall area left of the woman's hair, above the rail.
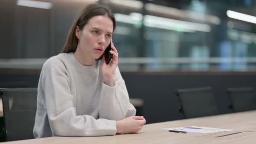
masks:
<svg viewBox="0 0 256 144"><path fill-rule="evenodd" d="M93 1L43 0L51 9L0 0L0 59L49 58L60 53L79 11ZM94 2L96 3L96 1Z"/></svg>

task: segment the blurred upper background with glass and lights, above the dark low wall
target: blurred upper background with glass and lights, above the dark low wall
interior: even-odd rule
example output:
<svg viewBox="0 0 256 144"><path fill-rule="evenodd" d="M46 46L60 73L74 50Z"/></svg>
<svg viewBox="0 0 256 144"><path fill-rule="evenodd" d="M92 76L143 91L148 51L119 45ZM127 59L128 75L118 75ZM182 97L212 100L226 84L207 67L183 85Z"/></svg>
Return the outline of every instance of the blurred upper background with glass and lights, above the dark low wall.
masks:
<svg viewBox="0 0 256 144"><path fill-rule="evenodd" d="M0 68L41 68L89 3L115 14L121 71L256 70L256 0L0 0Z"/></svg>

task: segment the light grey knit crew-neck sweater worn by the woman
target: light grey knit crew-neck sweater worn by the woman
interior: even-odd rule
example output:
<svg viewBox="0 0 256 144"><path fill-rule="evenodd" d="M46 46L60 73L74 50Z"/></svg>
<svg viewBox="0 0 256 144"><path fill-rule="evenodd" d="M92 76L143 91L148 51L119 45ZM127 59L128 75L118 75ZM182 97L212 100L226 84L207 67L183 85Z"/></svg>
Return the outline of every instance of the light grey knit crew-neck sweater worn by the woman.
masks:
<svg viewBox="0 0 256 144"><path fill-rule="evenodd" d="M117 67L115 86L103 83L101 60L92 66L61 53L43 65L38 83L34 136L115 135L116 120L135 115Z"/></svg>

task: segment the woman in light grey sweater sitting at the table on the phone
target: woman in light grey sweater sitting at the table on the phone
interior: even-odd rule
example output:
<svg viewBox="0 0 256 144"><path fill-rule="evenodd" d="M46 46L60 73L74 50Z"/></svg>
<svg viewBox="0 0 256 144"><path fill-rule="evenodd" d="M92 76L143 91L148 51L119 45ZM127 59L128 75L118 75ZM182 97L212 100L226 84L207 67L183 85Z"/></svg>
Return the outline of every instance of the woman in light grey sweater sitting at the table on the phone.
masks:
<svg viewBox="0 0 256 144"><path fill-rule="evenodd" d="M115 29L112 12L90 4L78 14L62 52L43 65L37 94L34 136L107 136L137 133L146 123L135 116L125 82L103 55Z"/></svg>

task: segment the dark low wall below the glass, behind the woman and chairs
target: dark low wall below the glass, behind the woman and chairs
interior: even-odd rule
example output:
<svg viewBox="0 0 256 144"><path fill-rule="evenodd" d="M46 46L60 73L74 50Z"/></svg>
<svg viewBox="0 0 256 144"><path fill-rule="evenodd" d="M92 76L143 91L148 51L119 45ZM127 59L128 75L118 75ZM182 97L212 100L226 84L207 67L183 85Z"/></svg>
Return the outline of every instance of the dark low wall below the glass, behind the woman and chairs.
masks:
<svg viewBox="0 0 256 144"><path fill-rule="evenodd" d="M0 74L0 87L37 87L40 71L23 74ZM179 113L177 88L212 86L220 114L229 113L226 88L256 88L256 73L248 72L179 72L179 73L122 73L130 98L144 100L142 113L147 123L183 119ZM192 101L193 102L193 101Z"/></svg>

